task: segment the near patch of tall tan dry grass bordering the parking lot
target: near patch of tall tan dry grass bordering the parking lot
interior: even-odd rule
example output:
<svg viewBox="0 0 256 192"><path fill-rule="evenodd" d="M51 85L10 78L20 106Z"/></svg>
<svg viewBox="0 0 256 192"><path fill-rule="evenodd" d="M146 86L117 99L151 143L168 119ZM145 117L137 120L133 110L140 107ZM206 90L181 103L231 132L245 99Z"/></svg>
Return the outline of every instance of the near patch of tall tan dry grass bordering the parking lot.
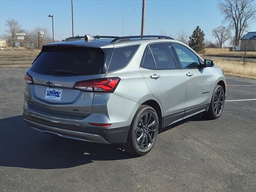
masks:
<svg viewBox="0 0 256 192"><path fill-rule="evenodd" d="M245 65L239 61L214 60L215 64L227 75L256 79L256 63L247 62Z"/></svg>

